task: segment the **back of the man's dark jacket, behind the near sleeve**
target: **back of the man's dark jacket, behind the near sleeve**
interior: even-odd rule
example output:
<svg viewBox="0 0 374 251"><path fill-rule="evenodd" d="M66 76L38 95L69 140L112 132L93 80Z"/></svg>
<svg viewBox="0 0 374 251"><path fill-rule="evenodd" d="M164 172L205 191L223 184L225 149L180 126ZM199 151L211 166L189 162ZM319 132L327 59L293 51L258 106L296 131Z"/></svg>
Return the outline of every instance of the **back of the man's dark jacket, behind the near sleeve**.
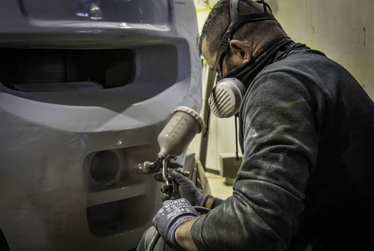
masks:
<svg viewBox="0 0 374 251"><path fill-rule="evenodd" d="M363 228L373 214L374 103L340 65L320 52L294 47L260 73L299 75L314 100L318 153L293 245L312 231L325 250L357 248L368 241Z"/></svg>

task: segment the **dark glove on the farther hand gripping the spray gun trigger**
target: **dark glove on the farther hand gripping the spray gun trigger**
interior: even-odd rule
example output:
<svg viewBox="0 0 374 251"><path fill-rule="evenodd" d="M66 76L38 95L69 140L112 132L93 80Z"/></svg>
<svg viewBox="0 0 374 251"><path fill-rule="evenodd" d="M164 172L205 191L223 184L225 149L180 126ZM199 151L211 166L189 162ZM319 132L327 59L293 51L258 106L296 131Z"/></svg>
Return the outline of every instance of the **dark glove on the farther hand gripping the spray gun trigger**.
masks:
<svg viewBox="0 0 374 251"><path fill-rule="evenodd" d="M186 198L192 206L205 207L208 196L200 192L199 189L197 189L196 185L192 182L192 180L189 180L182 174L172 169L169 170L168 174L170 176L170 179L172 179L178 186L179 194L182 198ZM174 199L171 198L170 195L168 195L168 192L171 192L169 191L168 185L163 184L161 186L161 192L164 193L164 195L161 196L162 201Z"/></svg>

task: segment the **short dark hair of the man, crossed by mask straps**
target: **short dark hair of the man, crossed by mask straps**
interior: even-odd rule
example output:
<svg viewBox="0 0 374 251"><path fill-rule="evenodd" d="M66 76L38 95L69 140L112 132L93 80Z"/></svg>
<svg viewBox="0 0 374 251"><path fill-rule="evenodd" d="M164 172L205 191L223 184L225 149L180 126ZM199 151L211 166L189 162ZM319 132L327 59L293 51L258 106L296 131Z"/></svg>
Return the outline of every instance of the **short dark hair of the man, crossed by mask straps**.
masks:
<svg viewBox="0 0 374 251"><path fill-rule="evenodd" d="M253 0L240 0L238 11L241 14L263 12L263 6ZM198 37L199 54L203 40L209 44L209 53L218 51L221 39L230 24L230 0L218 1L210 11L204 23L201 35ZM285 35L284 30L275 20L263 20L245 23L234 31L233 39L250 40L260 42L266 37L278 37Z"/></svg>

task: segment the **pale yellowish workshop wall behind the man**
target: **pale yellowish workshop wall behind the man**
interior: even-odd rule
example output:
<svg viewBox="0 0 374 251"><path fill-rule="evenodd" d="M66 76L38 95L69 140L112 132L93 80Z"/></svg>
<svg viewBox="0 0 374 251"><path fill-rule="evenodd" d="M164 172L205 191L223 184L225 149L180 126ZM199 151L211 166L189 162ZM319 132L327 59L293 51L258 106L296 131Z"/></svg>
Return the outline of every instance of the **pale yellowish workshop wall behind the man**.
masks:
<svg viewBox="0 0 374 251"><path fill-rule="evenodd" d="M373 0L266 1L294 41L320 50L344 66L374 99ZM215 2L210 0L209 4L212 6ZM201 3L196 7L201 30L208 11L199 12ZM205 71L203 69L203 77ZM234 119L217 119L213 115L209 133L206 167L219 170L219 153L235 151ZM200 136L194 139L191 147L199 153Z"/></svg>

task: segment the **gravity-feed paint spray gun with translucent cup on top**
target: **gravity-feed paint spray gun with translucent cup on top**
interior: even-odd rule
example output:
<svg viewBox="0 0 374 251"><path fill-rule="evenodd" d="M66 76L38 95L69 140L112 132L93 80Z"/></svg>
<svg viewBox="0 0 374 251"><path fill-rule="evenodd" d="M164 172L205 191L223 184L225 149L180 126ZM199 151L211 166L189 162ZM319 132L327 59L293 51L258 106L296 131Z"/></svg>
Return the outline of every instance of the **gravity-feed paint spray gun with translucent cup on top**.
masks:
<svg viewBox="0 0 374 251"><path fill-rule="evenodd" d="M178 186L168 176L168 170L175 171L188 177L189 172L183 171L183 166L171 162L176 160L176 156L181 155L187 148L197 133L203 131L204 120L199 113L188 107L178 107L174 110L173 116L157 137L161 148L156 161L145 161L138 164L139 170L145 174L159 173L162 169L162 179L168 185L169 195L175 199L180 198Z"/></svg>

